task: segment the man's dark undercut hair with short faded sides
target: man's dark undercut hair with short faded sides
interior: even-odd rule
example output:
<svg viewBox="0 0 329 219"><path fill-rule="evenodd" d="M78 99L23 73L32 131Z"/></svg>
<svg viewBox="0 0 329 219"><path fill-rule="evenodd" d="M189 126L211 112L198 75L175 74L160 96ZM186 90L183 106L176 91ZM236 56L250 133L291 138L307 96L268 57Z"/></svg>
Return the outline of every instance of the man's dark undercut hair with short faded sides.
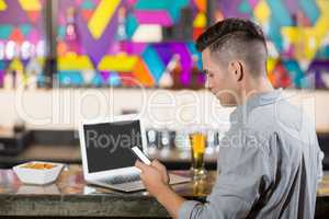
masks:
<svg viewBox="0 0 329 219"><path fill-rule="evenodd" d="M208 27L197 39L196 49L209 49L222 64L241 59L252 77L266 72L268 49L261 27L242 19L226 19Z"/></svg>

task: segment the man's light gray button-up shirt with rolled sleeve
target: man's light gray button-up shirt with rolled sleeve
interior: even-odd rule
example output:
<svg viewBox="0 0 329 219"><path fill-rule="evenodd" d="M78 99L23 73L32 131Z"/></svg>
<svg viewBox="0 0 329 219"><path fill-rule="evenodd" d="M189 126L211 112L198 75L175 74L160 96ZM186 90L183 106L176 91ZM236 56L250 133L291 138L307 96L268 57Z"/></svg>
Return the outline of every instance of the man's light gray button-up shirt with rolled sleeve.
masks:
<svg viewBox="0 0 329 219"><path fill-rule="evenodd" d="M314 218L322 152L311 119L275 90L238 106L230 122L211 195L184 201L179 218Z"/></svg>

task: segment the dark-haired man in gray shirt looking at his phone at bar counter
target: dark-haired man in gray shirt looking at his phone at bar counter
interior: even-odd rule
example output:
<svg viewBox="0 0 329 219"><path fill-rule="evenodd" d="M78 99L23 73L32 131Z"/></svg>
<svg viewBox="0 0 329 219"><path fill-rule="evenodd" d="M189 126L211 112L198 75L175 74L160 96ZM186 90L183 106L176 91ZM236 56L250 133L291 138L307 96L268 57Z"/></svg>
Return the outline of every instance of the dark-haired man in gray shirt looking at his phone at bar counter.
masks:
<svg viewBox="0 0 329 219"><path fill-rule="evenodd" d="M173 218L314 218L321 150L314 124L273 90L261 28L228 19L202 34L207 88L224 106L237 105L220 141L218 177L206 203L168 185L166 168L136 162L147 191Z"/></svg>

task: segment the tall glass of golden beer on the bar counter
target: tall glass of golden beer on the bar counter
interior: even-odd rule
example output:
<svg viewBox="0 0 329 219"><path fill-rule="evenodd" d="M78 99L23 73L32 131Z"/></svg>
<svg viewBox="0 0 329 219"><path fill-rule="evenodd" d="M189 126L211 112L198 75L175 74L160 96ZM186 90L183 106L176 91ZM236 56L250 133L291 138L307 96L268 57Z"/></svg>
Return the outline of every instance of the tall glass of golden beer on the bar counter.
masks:
<svg viewBox="0 0 329 219"><path fill-rule="evenodd" d="M202 131L195 131L189 135L191 145L191 174L194 180L204 178L206 171L204 169L204 152L206 148L206 135Z"/></svg>

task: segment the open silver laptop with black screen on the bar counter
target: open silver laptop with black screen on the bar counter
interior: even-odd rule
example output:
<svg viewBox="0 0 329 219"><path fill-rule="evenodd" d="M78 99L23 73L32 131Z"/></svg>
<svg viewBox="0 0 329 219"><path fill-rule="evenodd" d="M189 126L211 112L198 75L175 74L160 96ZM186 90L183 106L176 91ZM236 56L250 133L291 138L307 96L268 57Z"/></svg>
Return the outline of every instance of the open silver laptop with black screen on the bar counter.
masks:
<svg viewBox="0 0 329 219"><path fill-rule="evenodd" d="M137 115L82 122L79 128L83 177L88 184L122 192L145 189L136 157L131 148L147 149L146 132ZM169 174L170 184L190 182L190 177Z"/></svg>

